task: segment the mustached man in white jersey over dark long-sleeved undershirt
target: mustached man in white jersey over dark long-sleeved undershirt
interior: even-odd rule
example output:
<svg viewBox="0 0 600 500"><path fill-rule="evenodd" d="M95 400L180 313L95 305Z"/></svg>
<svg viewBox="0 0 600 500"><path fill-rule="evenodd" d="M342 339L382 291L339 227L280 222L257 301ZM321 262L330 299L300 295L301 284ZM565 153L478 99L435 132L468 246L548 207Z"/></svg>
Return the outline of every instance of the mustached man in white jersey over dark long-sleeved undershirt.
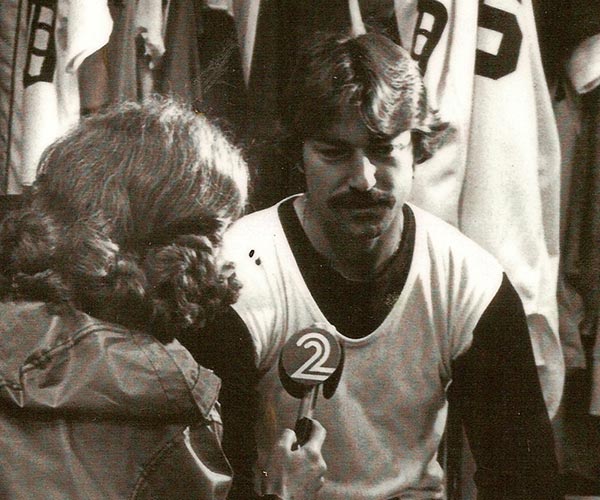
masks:
<svg viewBox="0 0 600 500"><path fill-rule="evenodd" d="M337 391L315 413L328 432L318 498L445 498L437 453L449 402L475 457L479 498L559 498L519 297L491 255L407 203L413 169L450 133L417 65L379 35L326 35L291 81L286 145L306 191L230 230L241 298L210 347L191 347L223 379L233 495L251 498L252 481L269 493L260 491L266 457L298 408L279 355L317 324L345 350Z"/></svg>

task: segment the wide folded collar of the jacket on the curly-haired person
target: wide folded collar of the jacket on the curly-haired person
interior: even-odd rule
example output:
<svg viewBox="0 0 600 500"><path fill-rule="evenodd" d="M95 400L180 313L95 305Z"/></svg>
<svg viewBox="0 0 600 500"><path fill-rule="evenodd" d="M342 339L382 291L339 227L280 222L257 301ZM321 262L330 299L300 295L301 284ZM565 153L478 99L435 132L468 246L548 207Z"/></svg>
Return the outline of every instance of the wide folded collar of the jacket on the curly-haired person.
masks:
<svg viewBox="0 0 600 500"><path fill-rule="evenodd" d="M207 417L220 379L173 341L96 320L0 303L0 403L106 418Z"/></svg>

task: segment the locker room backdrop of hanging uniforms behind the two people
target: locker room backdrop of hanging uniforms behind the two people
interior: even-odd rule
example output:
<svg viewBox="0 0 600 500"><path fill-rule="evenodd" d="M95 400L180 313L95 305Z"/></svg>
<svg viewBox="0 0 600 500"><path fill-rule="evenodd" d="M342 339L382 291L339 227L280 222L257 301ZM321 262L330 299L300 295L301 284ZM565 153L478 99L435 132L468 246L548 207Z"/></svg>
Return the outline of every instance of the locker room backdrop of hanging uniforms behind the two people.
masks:
<svg viewBox="0 0 600 500"><path fill-rule="evenodd" d="M369 29L411 50L457 125L418 168L413 201L507 269L565 488L600 495L597 0L0 0L2 211L26 200L41 152L81 116L153 92L191 103L244 147L249 210L297 192L278 141L287 75L310 33L350 28L353 3ZM459 490L472 495L464 480Z"/></svg>

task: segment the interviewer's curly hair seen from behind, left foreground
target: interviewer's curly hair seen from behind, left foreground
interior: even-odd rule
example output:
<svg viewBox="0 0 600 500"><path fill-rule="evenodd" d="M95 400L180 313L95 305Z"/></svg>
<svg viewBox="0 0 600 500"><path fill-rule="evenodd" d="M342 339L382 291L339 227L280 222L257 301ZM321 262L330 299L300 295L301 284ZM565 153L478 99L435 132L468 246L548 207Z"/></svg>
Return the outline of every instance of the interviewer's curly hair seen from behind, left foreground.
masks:
<svg viewBox="0 0 600 500"><path fill-rule="evenodd" d="M224 135L170 99L85 119L45 151L30 205L0 224L0 297L163 342L202 326L238 296L219 246L247 176Z"/></svg>

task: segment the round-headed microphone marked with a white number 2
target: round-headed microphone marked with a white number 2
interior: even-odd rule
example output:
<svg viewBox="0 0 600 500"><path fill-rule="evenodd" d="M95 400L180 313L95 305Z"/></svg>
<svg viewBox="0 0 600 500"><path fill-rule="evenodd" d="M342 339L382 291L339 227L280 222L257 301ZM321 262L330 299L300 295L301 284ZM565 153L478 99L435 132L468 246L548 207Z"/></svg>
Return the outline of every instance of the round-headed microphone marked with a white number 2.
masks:
<svg viewBox="0 0 600 500"><path fill-rule="evenodd" d="M300 399L294 428L298 441L292 449L306 443L317 404L319 387L329 399L335 393L344 368L344 349L337 337L320 325L312 325L290 337L279 355L279 379L283 388Z"/></svg>

